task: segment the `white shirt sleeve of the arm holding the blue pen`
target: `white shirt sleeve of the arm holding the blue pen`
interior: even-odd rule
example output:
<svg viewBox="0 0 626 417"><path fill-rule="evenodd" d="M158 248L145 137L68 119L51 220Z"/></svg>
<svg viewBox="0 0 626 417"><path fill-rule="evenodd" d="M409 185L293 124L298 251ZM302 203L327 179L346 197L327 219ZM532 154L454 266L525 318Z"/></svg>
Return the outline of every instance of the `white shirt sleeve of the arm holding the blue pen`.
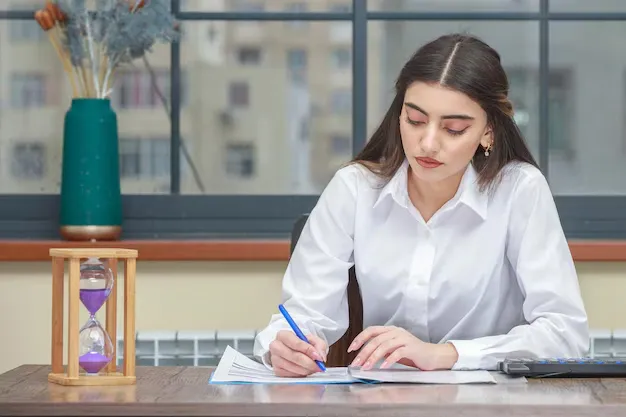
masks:
<svg viewBox="0 0 626 417"><path fill-rule="evenodd" d="M282 300L303 333L315 334L330 346L348 328L348 271L353 265L355 167L339 170L309 214L285 271ZM291 329L278 312L255 339L254 355L267 357L276 333Z"/></svg>

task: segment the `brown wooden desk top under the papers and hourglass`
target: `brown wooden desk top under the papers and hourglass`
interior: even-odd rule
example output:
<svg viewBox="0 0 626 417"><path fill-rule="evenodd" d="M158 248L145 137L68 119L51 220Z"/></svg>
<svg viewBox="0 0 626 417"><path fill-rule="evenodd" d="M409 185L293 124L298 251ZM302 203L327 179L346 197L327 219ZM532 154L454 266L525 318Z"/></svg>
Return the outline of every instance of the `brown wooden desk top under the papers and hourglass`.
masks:
<svg viewBox="0 0 626 417"><path fill-rule="evenodd" d="M497 385L209 385L210 369L138 367L137 385L63 387L48 366L0 375L0 415L593 416L626 415L624 379Z"/></svg>

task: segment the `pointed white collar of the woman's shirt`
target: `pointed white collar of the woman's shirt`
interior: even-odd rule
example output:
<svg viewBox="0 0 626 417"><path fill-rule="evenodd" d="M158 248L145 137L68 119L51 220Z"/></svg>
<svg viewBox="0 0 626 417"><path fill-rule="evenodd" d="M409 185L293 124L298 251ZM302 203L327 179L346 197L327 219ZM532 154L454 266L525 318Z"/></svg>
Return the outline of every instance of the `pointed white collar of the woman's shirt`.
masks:
<svg viewBox="0 0 626 417"><path fill-rule="evenodd" d="M381 189L378 198L374 202L374 208L388 197L393 198L400 206L408 208L410 204L407 192L408 169L409 162L405 159L394 176ZM488 202L488 195L480 191L478 173L474 166L469 164L463 174L459 189L449 202L449 207L455 207L458 203L465 204L485 220L487 218Z"/></svg>

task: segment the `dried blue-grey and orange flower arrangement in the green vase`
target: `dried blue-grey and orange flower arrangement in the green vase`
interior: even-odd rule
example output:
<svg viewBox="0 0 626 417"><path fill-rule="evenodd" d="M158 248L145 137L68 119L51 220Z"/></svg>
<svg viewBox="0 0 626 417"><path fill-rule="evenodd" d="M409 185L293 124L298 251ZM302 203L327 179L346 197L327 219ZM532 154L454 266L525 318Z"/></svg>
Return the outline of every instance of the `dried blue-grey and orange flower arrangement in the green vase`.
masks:
<svg viewBox="0 0 626 417"><path fill-rule="evenodd" d="M73 97L107 98L117 69L157 42L178 39L169 0L47 0L35 12L72 85Z"/></svg>

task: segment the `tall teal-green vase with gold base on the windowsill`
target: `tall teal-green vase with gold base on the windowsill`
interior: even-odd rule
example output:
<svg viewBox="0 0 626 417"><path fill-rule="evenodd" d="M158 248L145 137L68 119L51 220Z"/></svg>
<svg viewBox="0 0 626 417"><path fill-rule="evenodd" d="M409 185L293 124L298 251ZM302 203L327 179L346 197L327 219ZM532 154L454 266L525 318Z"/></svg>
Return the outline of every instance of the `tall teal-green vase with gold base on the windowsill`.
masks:
<svg viewBox="0 0 626 417"><path fill-rule="evenodd" d="M117 116L109 99L72 100L65 114L60 232L116 240L122 231Z"/></svg>

